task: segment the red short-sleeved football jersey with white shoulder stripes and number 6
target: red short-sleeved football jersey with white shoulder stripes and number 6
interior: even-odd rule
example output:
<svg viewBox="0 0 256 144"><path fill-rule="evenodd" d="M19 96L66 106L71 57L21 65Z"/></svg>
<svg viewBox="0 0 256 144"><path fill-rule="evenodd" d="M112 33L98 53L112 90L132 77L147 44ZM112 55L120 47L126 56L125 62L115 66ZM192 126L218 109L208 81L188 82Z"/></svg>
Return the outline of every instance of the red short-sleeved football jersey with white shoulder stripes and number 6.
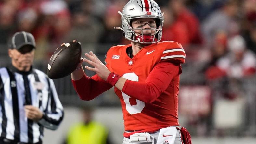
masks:
<svg viewBox="0 0 256 144"><path fill-rule="evenodd" d="M120 98L125 130L153 132L163 127L179 125L178 93L180 64L185 62L185 52L180 43L173 41L158 42L142 48L133 58L126 49L131 45L111 47L106 55L106 66L111 72L132 81L143 82L154 66L160 62L170 62L179 67L179 72L157 99L146 103L134 99L115 88ZM125 133L129 136L132 133Z"/></svg>

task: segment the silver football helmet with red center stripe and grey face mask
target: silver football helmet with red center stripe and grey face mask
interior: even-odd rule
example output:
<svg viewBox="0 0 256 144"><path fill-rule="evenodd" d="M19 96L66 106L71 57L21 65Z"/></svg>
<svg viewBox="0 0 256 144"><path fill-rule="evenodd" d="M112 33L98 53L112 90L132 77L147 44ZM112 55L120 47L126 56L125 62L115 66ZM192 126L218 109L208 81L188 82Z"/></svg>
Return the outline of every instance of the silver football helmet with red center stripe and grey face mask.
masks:
<svg viewBox="0 0 256 144"><path fill-rule="evenodd" d="M123 30L125 38L142 44L152 44L159 42L162 38L162 27L164 17L158 4L153 0L130 0L123 8L122 13L122 28L115 29ZM136 29L131 26L131 21L136 18L154 18L157 27L155 29ZM142 34L137 35L134 30L141 30ZM144 35L143 30L155 30L154 35Z"/></svg>

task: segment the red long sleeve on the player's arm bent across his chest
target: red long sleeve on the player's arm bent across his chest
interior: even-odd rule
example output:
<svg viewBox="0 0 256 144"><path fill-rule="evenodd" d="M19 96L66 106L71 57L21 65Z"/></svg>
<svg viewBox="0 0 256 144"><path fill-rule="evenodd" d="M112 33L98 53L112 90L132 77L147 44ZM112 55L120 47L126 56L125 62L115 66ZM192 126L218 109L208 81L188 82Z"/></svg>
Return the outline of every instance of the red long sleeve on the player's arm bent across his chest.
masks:
<svg viewBox="0 0 256 144"><path fill-rule="evenodd" d="M179 75L179 65L161 62L154 66L145 82L126 80L122 92L140 101L152 103L177 75Z"/></svg>

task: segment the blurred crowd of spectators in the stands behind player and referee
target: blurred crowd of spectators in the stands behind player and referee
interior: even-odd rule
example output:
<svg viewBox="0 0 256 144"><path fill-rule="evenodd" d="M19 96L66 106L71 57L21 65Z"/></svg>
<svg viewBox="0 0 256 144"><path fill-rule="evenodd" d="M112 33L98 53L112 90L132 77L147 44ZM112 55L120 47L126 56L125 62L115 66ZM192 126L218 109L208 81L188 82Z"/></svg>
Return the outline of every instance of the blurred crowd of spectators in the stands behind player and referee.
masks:
<svg viewBox="0 0 256 144"><path fill-rule="evenodd" d="M254 110L249 107L245 111L250 109L250 114L256 115L256 0L155 1L165 16L162 41L179 42L186 51L183 72L187 77L186 80L181 77L181 84L210 87L209 111L198 114L198 119L192 118L188 123L203 120L207 126L213 126L211 117L219 98L232 101L249 95L250 98L244 97L244 105L251 103ZM72 40L94 45L96 51L99 44L128 44L122 31L114 29L121 26L118 11L122 11L127 2L0 0L1 49L7 49L9 36L17 31L34 35L38 61L48 61L61 43ZM104 52L109 49L100 48ZM248 123L256 123L250 114L247 118L252 122Z"/></svg>

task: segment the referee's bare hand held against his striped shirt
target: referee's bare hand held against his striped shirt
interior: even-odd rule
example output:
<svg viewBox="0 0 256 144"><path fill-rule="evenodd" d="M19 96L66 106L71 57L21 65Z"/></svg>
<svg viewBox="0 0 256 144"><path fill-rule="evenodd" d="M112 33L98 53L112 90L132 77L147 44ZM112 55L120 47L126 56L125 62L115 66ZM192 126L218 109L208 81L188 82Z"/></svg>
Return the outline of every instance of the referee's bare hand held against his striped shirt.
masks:
<svg viewBox="0 0 256 144"><path fill-rule="evenodd" d="M25 108L25 114L28 119L31 119L33 121L39 121L43 117L43 112L38 107L32 106L32 105L26 105Z"/></svg>

